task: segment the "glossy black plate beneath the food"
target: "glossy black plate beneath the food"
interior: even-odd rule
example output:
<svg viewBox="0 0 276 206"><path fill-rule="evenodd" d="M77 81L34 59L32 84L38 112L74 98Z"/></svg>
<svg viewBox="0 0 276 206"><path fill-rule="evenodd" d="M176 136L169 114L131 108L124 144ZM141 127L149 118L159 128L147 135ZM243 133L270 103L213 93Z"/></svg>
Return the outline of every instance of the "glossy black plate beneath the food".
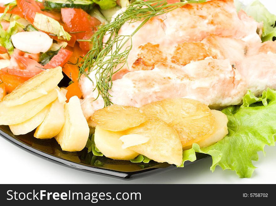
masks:
<svg viewBox="0 0 276 206"><path fill-rule="evenodd" d="M98 157L94 156L92 152L88 153L86 148L80 152L66 152L61 150L60 145L54 138L50 140L39 140L34 138L33 133L28 133L26 135L13 135L8 126L0 126L0 134L14 144L25 148L28 151L34 152L40 157L44 156L56 163L61 163L62 165L71 168L73 167L84 172L93 172L100 175L107 175L109 177L113 176L129 179L141 175L165 172L176 168L176 166L155 161L150 161L146 164L112 160L107 157ZM197 161L206 157L208 157L208 155L197 154ZM191 162L185 162L185 166L188 164L191 164Z"/></svg>

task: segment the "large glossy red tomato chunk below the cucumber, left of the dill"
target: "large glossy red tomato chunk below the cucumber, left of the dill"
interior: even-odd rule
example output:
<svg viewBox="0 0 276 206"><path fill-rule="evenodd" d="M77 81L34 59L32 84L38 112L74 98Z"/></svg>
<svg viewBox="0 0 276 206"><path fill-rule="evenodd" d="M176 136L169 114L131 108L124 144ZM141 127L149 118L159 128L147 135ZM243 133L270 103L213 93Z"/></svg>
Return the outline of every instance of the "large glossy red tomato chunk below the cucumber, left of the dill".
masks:
<svg viewBox="0 0 276 206"><path fill-rule="evenodd" d="M97 18L91 17L80 8L61 8L61 18L65 24L64 29L75 34L77 39L82 39L87 32L93 34L96 26L101 24Z"/></svg>

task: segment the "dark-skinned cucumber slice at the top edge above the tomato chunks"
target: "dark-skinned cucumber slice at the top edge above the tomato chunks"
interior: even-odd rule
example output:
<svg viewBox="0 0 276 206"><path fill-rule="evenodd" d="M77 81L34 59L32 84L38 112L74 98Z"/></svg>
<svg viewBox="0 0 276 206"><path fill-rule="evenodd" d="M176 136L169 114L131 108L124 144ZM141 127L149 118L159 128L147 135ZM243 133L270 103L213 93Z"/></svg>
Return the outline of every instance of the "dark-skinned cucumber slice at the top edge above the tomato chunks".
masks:
<svg viewBox="0 0 276 206"><path fill-rule="evenodd" d="M45 8L61 9L61 8L81 8L89 11L93 8L94 2L91 0L45 0Z"/></svg>

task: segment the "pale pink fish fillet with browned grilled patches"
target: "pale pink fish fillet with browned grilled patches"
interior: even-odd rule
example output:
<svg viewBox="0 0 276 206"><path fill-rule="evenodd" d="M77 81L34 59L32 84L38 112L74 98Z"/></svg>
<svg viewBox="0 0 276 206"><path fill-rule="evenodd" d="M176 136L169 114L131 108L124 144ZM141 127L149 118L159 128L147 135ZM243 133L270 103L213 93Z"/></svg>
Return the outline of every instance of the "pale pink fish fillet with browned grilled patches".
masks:
<svg viewBox="0 0 276 206"><path fill-rule="evenodd" d="M127 35L139 23L127 23ZM188 4L152 18L132 38L129 68L113 75L114 104L141 107L165 98L192 98L211 108L241 103L247 89L256 95L276 89L276 42L262 43L261 25L236 13L232 0ZM153 32L154 31L154 32ZM89 77L94 79L95 72ZM79 82L88 119L104 107L95 85Z"/></svg>

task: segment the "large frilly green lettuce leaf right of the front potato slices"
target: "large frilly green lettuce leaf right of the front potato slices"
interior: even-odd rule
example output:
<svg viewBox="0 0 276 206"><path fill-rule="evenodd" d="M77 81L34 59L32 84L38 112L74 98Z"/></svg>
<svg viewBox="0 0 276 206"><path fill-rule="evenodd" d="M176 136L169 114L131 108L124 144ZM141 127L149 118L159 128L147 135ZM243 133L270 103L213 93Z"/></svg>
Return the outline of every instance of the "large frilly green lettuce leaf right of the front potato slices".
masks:
<svg viewBox="0 0 276 206"><path fill-rule="evenodd" d="M195 152L212 156L212 172L218 165L223 170L236 171L241 178L251 177L256 168L252 161L258 160L257 152L264 152L265 145L275 145L276 91L268 88L260 98L247 92L243 101L243 107L230 106L221 110L229 120L226 137L206 148L193 144ZM190 155L193 156L192 151Z"/></svg>

